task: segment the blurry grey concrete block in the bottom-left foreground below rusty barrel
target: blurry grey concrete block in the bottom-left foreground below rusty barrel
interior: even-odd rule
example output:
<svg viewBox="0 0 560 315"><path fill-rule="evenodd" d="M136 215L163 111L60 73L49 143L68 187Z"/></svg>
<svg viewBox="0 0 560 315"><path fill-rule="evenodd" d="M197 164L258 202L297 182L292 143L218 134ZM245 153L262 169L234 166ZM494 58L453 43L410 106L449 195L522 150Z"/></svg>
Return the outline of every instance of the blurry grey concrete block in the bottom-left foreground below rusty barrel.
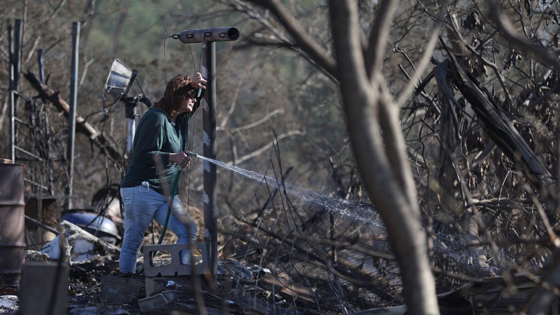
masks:
<svg viewBox="0 0 560 315"><path fill-rule="evenodd" d="M24 264L21 273L21 314L44 314L54 298L52 314L66 314L68 297L68 265L58 262L30 261ZM59 272L58 285L56 282Z"/></svg>

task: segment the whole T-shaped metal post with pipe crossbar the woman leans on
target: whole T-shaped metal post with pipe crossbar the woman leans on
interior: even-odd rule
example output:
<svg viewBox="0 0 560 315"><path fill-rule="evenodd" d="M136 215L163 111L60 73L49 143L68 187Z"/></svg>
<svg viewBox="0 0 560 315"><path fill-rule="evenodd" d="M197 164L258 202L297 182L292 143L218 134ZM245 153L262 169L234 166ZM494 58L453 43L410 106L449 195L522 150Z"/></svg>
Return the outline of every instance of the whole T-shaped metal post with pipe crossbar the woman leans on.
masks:
<svg viewBox="0 0 560 315"><path fill-rule="evenodd" d="M239 35L237 27L185 30L179 34L179 40L184 44L202 43L200 73L208 81L202 100L203 156L211 159L216 159L216 41L235 41ZM204 242L211 244L210 262L214 276L218 270L216 182L216 164L204 161Z"/></svg>

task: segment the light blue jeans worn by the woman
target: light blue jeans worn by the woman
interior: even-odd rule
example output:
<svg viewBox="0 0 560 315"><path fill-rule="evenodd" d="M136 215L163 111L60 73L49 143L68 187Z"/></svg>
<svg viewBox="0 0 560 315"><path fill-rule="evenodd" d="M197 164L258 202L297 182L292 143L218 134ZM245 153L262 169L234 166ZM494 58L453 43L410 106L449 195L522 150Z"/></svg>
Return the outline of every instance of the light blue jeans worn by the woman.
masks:
<svg viewBox="0 0 560 315"><path fill-rule="evenodd" d="M164 225L169 199L151 188L142 186L121 188L120 195L124 203L124 237L120 250L119 271L134 273L144 232L152 219ZM197 239L197 224L183 208L178 196L173 199L167 228L178 237L177 244L195 242Z"/></svg>

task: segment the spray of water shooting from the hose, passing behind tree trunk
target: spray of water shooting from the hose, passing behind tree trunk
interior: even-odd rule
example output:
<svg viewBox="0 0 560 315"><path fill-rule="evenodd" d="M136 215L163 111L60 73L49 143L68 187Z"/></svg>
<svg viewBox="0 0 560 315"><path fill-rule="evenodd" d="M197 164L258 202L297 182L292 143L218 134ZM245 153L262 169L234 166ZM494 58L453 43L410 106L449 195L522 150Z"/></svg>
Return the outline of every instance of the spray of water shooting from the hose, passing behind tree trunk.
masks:
<svg viewBox="0 0 560 315"><path fill-rule="evenodd" d="M257 172L245 170L244 168L240 168L228 163L224 163L221 161L217 161L215 159L198 156L205 161L204 168L208 169L208 165L206 163L213 163L217 166L226 168L226 170L233 171L239 173L242 176L251 178L255 181L262 181L270 187L279 189L283 189L285 187L286 192L291 195L297 196L302 200L305 200L309 203L314 203L320 206L323 206L325 209L329 209L338 213L340 215L344 215L349 217L353 220L358 220L362 223L370 224L376 227L377 229L381 229L381 231L385 231L385 226L382 223L379 214L375 211L374 207L370 204L360 203L356 201L347 201L337 198L332 198L330 196L321 195L318 192L305 189L303 187L287 184L286 182L282 182L277 180L271 176L265 176L259 174ZM482 270L492 271L496 274L500 272L497 266L495 265L488 265L488 266L480 266L480 265L472 265L473 261L477 261L477 258L472 257L464 252L465 250L465 243L460 239L450 240L449 236L447 236L443 232L436 232L436 238L438 242L434 243L434 248L440 254L450 257L453 260L459 262L460 264L469 265L472 267L478 267ZM445 242L444 242L445 240ZM513 261L513 258L506 257L508 260Z"/></svg>

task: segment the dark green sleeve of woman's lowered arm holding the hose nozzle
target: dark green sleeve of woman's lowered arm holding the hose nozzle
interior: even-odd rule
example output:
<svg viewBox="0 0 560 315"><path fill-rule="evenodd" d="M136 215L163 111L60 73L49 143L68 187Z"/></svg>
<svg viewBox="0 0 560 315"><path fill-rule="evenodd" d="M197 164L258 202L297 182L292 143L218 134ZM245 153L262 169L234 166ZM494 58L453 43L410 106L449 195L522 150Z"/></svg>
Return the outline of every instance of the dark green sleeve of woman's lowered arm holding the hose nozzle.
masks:
<svg viewBox="0 0 560 315"><path fill-rule="evenodd" d="M138 126L137 142L134 144L135 159L147 165L155 165L156 159L161 159L164 167L169 162L169 152L161 152L164 145L165 117L151 113Z"/></svg>

